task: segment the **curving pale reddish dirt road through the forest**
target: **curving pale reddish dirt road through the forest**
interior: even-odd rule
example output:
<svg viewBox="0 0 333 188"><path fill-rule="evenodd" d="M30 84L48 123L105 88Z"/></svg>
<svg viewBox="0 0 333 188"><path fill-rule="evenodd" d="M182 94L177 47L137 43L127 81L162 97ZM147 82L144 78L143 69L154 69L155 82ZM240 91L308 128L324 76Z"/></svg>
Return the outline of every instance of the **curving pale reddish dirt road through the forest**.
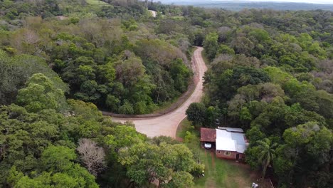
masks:
<svg viewBox="0 0 333 188"><path fill-rule="evenodd" d="M137 131L147 135L148 137L161 135L176 137L176 130L179 122L186 117L186 109L191 103L199 102L203 95L203 75L207 71L207 67L201 56L202 51L203 48L197 48L196 51L194 51L194 56L192 58L192 68L194 69L194 74L199 74L200 79L196 84L194 92L179 108L171 113L159 117L147 117L140 119L112 117L112 120L116 122L132 121Z"/></svg>

